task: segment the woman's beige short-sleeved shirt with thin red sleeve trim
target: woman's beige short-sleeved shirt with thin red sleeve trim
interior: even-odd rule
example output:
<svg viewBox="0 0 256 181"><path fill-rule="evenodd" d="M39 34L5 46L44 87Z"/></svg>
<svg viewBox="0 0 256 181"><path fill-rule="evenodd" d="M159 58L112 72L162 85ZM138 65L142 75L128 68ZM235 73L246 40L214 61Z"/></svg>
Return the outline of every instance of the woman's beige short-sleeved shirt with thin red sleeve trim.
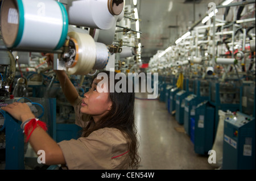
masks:
<svg viewBox="0 0 256 181"><path fill-rule="evenodd" d="M61 141L58 145L70 170L121 170L129 167L127 141L116 128L98 129L88 137Z"/></svg>

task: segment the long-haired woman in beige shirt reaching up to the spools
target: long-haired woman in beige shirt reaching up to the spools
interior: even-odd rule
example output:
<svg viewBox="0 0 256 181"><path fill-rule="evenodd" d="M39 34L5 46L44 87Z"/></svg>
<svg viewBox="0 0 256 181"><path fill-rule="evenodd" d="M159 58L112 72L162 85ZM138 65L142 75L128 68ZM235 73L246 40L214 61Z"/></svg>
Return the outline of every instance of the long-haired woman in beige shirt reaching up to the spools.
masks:
<svg viewBox="0 0 256 181"><path fill-rule="evenodd" d="M53 54L47 54L47 64L53 65ZM138 169L134 92L99 91L97 84L101 79L94 78L82 98L64 70L55 70L55 73L65 97L75 108L76 124L83 128L77 140L56 143L42 127L30 128L28 123L36 117L26 103L15 102L2 107L22 121L34 151L45 151L46 165L61 165L67 169ZM110 72L104 73L109 75Z"/></svg>

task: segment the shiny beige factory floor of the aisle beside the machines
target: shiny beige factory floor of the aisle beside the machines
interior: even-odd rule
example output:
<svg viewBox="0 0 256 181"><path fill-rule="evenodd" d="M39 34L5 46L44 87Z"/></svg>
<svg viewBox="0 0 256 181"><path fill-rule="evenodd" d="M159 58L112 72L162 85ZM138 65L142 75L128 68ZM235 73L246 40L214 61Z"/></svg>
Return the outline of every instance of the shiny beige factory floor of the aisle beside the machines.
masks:
<svg viewBox="0 0 256 181"><path fill-rule="evenodd" d="M213 170L208 157L196 154L193 143L159 100L137 93L135 123L140 138L140 170ZM143 99L142 99L143 98Z"/></svg>

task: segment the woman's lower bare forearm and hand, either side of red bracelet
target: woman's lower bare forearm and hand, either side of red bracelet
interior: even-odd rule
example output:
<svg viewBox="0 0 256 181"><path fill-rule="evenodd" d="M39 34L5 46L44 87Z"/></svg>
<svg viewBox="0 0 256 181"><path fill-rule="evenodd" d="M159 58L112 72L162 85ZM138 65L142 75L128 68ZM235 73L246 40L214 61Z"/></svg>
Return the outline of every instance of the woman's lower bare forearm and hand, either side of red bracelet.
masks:
<svg viewBox="0 0 256 181"><path fill-rule="evenodd" d="M2 107L2 110L9 112L15 119L22 122L35 118L35 115L31 112L30 107L26 103L15 102L6 107ZM28 134L30 134L30 132ZM46 165L65 164L65 158L60 146L57 145L42 128L36 127L28 141L36 153L38 153L38 150L45 151Z"/></svg>

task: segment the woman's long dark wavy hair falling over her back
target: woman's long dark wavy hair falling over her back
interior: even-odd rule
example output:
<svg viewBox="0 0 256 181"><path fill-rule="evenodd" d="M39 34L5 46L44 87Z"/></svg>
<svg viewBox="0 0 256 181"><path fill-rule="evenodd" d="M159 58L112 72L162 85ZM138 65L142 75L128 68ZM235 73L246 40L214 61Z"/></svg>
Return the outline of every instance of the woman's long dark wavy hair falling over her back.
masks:
<svg viewBox="0 0 256 181"><path fill-rule="evenodd" d="M108 82L110 82L110 71L101 71L100 73L106 73L108 75ZM112 72L113 73L113 72ZM99 73L98 73L99 74ZM93 80L97 77L96 74ZM117 73L114 72L114 76ZM114 85L119 81L118 79L111 80L114 81ZM133 85L133 84L131 84ZM128 79L126 77L126 92L110 92L109 88L109 101L112 102L112 109L109 111L108 114L101 117L100 120L97 121L97 124L94 122L92 117L89 119L89 123L83 128L82 137L88 137L90 133L96 131L101 128L117 128L125 136L128 144L128 153L129 153L129 167L130 169L138 169L139 162L141 158L138 154L138 132L137 127L134 123L134 100L135 100L135 93L134 87L133 91L129 92L128 87ZM110 84L109 86L110 87ZM81 105L81 104L79 104ZM81 106L80 106L81 107ZM80 107L77 108L77 111L80 112ZM81 117L81 112L80 112Z"/></svg>

